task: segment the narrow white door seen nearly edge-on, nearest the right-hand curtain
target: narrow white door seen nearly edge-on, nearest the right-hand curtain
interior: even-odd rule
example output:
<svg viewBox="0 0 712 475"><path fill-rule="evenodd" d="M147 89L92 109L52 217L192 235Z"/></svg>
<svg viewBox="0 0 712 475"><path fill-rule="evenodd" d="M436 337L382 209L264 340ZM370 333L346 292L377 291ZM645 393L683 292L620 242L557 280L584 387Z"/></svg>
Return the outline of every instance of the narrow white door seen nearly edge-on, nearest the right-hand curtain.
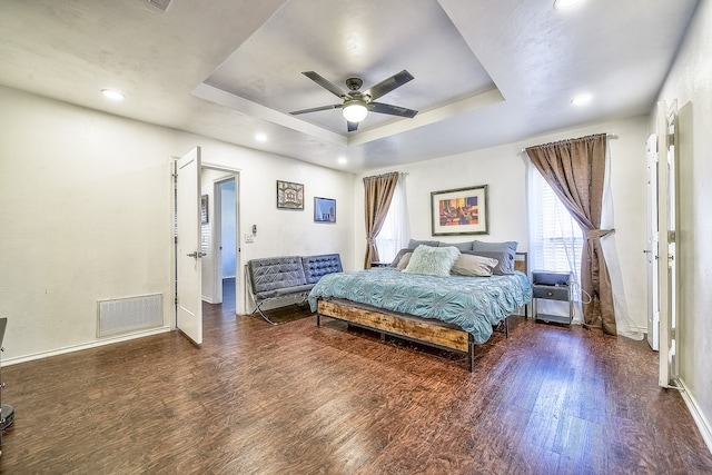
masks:
<svg viewBox="0 0 712 475"><path fill-rule="evenodd" d="M647 344L660 349L660 250L657 226L657 135L647 139Z"/></svg>

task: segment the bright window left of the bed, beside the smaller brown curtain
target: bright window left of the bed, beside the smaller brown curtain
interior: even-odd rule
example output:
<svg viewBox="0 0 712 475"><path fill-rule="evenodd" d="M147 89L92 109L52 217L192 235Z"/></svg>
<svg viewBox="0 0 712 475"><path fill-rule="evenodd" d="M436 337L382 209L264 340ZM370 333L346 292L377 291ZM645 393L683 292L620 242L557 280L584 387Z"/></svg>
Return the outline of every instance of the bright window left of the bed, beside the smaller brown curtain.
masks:
<svg viewBox="0 0 712 475"><path fill-rule="evenodd" d="M408 222L408 202L405 192L405 174L398 176L398 182L390 200L386 220L376 236L378 260L390 263L398 250L408 245L411 228Z"/></svg>

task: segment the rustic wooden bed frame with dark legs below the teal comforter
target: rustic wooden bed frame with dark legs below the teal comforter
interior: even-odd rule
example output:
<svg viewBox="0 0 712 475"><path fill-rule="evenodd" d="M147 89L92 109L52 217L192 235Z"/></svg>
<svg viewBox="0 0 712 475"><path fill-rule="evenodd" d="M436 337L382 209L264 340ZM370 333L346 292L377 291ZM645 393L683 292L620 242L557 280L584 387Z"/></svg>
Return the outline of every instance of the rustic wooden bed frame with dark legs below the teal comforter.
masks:
<svg viewBox="0 0 712 475"><path fill-rule="evenodd" d="M362 328L385 335L422 343L435 348L467 355L467 369L475 366L475 343L472 335L457 325L432 318L398 314L349 300L318 300L316 324L322 325L322 316L337 318ZM507 320L504 320L504 333L508 336Z"/></svg>

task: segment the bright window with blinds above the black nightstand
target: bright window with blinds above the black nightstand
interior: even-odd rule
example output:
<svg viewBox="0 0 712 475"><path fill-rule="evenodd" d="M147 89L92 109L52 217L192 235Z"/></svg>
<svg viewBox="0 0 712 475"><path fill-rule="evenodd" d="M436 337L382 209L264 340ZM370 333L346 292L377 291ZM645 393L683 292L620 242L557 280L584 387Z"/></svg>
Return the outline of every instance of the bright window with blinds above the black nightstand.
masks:
<svg viewBox="0 0 712 475"><path fill-rule="evenodd" d="M531 247L533 268L571 271L581 283L583 232L562 205L554 190L536 170L532 172L530 194ZM578 294L578 293L574 293Z"/></svg>

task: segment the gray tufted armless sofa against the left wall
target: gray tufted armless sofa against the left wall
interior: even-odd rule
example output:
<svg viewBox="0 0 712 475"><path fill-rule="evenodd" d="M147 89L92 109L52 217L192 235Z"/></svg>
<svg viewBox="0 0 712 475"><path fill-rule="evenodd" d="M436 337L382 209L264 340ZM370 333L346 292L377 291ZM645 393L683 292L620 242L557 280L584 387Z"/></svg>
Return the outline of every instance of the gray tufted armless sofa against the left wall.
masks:
<svg viewBox="0 0 712 475"><path fill-rule="evenodd" d="M342 271L338 254L318 256L280 256L251 259L245 267L245 280L255 311L268 323L276 325L263 311L267 301L283 297L299 296L303 301L322 276Z"/></svg>

